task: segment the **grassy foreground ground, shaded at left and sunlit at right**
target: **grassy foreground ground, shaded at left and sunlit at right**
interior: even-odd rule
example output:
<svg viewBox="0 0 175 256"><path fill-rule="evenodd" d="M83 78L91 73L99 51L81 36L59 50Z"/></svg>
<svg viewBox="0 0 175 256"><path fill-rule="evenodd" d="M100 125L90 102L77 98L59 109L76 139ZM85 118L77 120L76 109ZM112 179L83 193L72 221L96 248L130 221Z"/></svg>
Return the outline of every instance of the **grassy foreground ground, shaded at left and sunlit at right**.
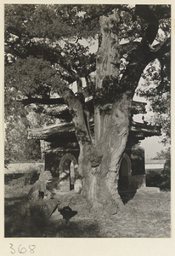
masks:
<svg viewBox="0 0 175 256"><path fill-rule="evenodd" d="M21 219L21 224L14 227L14 202L24 201L29 189L30 186L25 189L5 186L5 237L171 237L169 191L139 189L113 216L99 212L96 217L82 217L77 213L68 224L59 219L37 228L25 226L25 220Z"/></svg>

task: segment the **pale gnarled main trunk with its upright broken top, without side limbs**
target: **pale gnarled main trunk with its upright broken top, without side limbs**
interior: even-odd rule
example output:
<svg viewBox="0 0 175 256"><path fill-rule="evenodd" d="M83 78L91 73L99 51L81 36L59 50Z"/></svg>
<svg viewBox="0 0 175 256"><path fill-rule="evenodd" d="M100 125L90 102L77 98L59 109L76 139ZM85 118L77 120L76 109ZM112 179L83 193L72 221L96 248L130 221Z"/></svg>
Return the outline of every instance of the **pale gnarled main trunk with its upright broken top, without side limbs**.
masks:
<svg viewBox="0 0 175 256"><path fill-rule="evenodd" d="M97 56L94 98L94 140L82 143L79 157L84 177L83 195L91 210L105 209L115 214L121 205L117 184L122 154L129 131L132 95L120 90L118 67L118 17L102 17L102 42Z"/></svg>

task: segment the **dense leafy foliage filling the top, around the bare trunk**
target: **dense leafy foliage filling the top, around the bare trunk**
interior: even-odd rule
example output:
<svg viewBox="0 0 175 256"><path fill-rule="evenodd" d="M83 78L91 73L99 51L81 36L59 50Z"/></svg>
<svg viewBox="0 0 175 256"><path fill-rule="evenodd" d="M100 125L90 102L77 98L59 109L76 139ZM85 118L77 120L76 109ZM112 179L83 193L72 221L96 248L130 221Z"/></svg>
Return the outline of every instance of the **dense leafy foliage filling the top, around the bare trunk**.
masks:
<svg viewBox="0 0 175 256"><path fill-rule="evenodd" d="M170 115L170 51L166 45L161 51L156 49L157 45L170 40L170 6L6 4L4 90L8 148L14 144L9 138L15 137L12 126L19 121L21 127L25 125L21 134L26 139L26 128L42 123L39 118L36 126L32 126L32 121L31 124L25 121L25 105L35 103L33 108L36 110L39 109L37 103L53 104L53 98L54 103L59 103L56 96L74 82L78 92L95 98L97 91L90 74L96 70L96 51L92 49L97 41L99 45L101 42L100 17L109 16L114 9L118 15L117 35L121 43L118 80L125 78L133 50L146 37L152 52L158 52L159 68L150 63L144 73L144 84L154 83L155 86L140 91L140 94L150 99L154 111L161 113L158 118L159 122L161 118L161 124L165 123L165 140L170 136L167 117ZM151 23L149 17L153 13ZM165 54L162 54L163 50Z"/></svg>

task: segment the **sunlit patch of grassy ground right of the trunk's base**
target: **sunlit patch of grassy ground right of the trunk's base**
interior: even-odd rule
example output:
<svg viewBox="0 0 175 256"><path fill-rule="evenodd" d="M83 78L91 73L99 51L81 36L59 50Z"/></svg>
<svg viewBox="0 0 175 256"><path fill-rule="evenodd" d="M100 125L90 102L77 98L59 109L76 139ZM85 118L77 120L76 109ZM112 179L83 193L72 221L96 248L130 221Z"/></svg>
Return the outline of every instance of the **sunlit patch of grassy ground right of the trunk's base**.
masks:
<svg viewBox="0 0 175 256"><path fill-rule="evenodd" d="M116 216L100 224L108 237L170 237L170 192L136 194Z"/></svg>

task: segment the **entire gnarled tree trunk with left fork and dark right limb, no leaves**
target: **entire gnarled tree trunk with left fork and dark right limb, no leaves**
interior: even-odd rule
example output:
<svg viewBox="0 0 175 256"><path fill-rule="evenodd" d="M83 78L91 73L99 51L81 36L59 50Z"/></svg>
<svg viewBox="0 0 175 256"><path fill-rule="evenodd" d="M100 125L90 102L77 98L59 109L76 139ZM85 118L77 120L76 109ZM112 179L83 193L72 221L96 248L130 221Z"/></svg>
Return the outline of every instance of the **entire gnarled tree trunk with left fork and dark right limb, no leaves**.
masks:
<svg viewBox="0 0 175 256"><path fill-rule="evenodd" d="M139 15L144 18L144 9L139 10ZM117 38L120 21L117 13L101 17L102 40L97 53L96 89L93 96L94 136L90 134L87 125L88 112L83 107L83 100L69 89L62 92L76 127L76 138L80 146L78 170L83 181L82 195L90 211L98 212L100 209L116 214L122 205L118 194L118 179L130 128L133 95L144 68L159 58L163 51L170 49L170 40L161 49L150 48L158 30L158 20L153 17L155 23L151 19L150 23L148 21L142 41L129 48L129 61L121 79L121 46ZM154 37L148 36L150 30L154 31Z"/></svg>

